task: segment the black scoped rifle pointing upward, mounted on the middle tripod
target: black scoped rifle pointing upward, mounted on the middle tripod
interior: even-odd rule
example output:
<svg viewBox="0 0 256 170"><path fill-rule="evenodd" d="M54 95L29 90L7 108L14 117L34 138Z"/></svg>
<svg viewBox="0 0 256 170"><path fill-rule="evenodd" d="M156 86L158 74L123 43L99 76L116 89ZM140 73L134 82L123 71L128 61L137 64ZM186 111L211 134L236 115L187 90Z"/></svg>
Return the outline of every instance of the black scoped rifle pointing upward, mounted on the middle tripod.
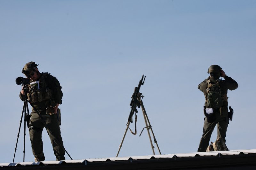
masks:
<svg viewBox="0 0 256 170"><path fill-rule="evenodd" d="M143 80L143 78L144 78L144 80ZM140 108L140 101L138 100L138 97L140 97L140 95L141 95L140 86L144 85L145 78L146 78L146 76L144 77L144 74L143 74L141 80L139 81L138 87L134 88L134 92L133 92L132 97L131 97L132 100L131 100L131 103L130 103L130 106L131 106L132 109L131 109L130 115L128 117L128 122L132 123L132 116L133 116L134 112L138 113L138 110L137 110L136 107ZM142 96L142 98L143 98L143 96Z"/></svg>

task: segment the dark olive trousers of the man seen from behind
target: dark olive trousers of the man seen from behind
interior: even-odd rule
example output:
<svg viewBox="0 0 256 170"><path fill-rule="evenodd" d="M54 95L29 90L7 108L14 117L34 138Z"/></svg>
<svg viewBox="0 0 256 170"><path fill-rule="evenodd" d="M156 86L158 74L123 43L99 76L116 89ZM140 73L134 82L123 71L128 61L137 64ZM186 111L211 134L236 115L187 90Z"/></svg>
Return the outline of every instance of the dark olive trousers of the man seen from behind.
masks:
<svg viewBox="0 0 256 170"><path fill-rule="evenodd" d="M207 117L204 118L204 129L203 129L203 135L200 140L200 144L198 147L197 152L205 152L210 139L212 132L214 130L214 127L217 125L217 139L223 138L224 142L226 142L226 132L228 129L228 118L227 117L221 117L220 112L216 112L213 114L215 121L210 121L210 118L207 119ZM212 118L212 117L211 117ZM208 121L209 120L209 121Z"/></svg>

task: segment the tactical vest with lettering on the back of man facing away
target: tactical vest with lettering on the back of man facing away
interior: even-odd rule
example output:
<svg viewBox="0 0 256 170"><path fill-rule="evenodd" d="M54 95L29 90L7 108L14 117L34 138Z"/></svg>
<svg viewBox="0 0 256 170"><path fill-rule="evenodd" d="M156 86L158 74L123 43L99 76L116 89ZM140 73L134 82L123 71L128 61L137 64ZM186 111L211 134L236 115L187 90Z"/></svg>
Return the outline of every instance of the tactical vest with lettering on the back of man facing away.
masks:
<svg viewBox="0 0 256 170"><path fill-rule="evenodd" d="M227 95L221 94L220 88L220 79L216 80L216 82L212 82L211 80L207 80L207 89L205 100L207 103L207 108L220 108L223 106L223 101L227 101L224 98L227 98Z"/></svg>

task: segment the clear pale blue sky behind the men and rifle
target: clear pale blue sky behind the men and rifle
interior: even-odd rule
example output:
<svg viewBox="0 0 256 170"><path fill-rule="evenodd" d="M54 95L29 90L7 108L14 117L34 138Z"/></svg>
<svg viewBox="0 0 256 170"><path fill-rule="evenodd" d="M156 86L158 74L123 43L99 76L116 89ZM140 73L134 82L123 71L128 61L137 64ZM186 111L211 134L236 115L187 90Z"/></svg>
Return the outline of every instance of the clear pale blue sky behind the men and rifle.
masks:
<svg viewBox="0 0 256 170"><path fill-rule="evenodd" d="M197 85L212 64L239 85L228 91L235 112L228 149L256 148L255 11L255 0L1 0L0 162L13 159L23 107L14 80L30 61L62 85L61 134L73 159L116 156L142 74L140 91L162 154L196 152L204 123ZM139 110L137 129L144 127ZM21 129L15 162L23 161ZM26 130L25 161L33 161ZM45 130L43 142L46 160L55 160ZM151 154L146 131L127 132L119 156Z"/></svg>

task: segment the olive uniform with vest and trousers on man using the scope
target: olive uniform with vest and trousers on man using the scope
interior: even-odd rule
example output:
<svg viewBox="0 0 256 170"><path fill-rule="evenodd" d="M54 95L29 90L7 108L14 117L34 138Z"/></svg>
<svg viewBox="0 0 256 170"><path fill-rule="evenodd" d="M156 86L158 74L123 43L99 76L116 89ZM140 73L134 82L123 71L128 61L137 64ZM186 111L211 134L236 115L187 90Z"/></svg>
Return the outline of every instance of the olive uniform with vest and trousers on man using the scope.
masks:
<svg viewBox="0 0 256 170"><path fill-rule="evenodd" d="M32 152L38 161L44 161L42 131L44 129L44 122L46 122L46 130L51 139L53 152L56 156L56 160L65 160L65 150L63 147L62 137L60 135L60 125L57 120L57 116L47 115L46 107L54 107L57 103L62 103L62 91L61 86L57 78L48 73L41 73L38 78L39 89L36 87L26 85L28 88L28 100L34 105L35 109L41 115L42 120L34 109L31 112L31 118L29 123L29 136L32 146ZM33 83L34 81L30 81ZM37 83L36 83L37 86ZM25 100L25 97L20 93L20 99Z"/></svg>

